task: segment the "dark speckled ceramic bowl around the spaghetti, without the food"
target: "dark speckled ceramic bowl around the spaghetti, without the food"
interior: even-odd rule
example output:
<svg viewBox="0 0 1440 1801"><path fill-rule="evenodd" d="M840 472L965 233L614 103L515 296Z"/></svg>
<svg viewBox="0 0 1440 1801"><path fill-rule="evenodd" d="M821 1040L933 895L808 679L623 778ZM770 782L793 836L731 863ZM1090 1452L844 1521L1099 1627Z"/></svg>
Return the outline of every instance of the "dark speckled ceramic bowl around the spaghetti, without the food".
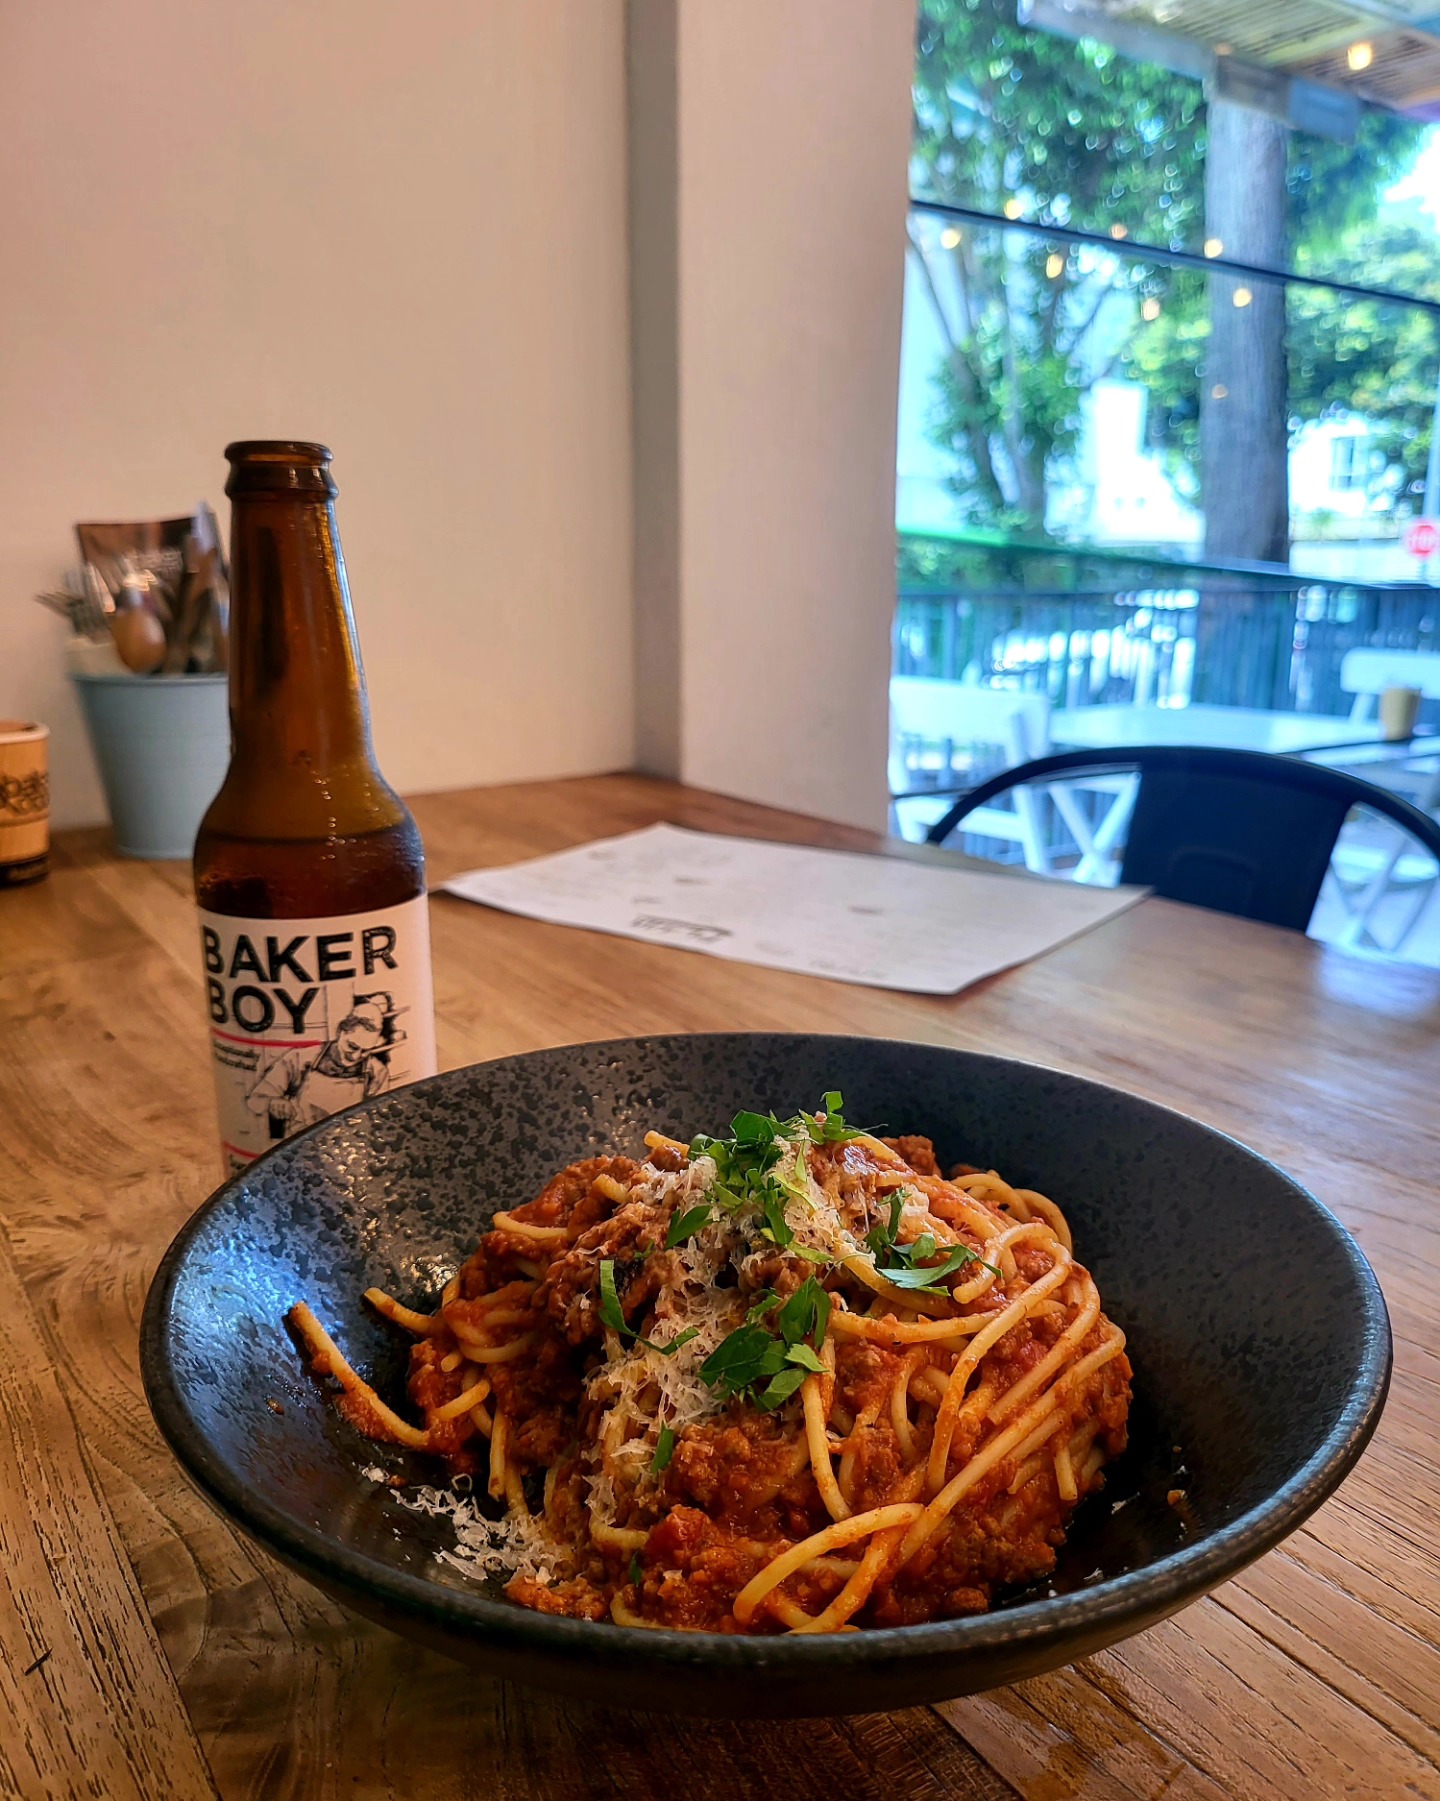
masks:
<svg viewBox="0 0 1440 1801"><path fill-rule="evenodd" d="M1049 1583L990 1614L824 1637L551 1619L436 1558L448 1527L364 1471L436 1466L335 1412L281 1324L310 1300L382 1392L403 1335L371 1282L421 1306L500 1205L650 1127L720 1133L839 1088L850 1118L929 1133L1064 1207L1136 1367L1130 1450L1075 1518ZM149 1405L221 1511L302 1576L491 1675L623 1707L815 1715L995 1688L1154 1625L1292 1533L1384 1403L1379 1284L1332 1216L1235 1140L1055 1070L855 1037L650 1037L454 1070L302 1133L225 1183L146 1302ZM275 1403L275 1405L272 1405ZM1184 1489L1183 1507L1168 1504Z"/></svg>

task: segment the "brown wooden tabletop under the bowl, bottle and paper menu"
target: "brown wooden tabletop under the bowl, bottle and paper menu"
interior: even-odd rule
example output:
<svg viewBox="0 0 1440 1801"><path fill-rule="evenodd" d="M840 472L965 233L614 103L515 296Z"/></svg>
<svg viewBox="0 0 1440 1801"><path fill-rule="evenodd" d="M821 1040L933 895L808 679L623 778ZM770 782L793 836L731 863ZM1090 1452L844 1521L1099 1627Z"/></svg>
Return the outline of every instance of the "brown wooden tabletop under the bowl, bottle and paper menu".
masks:
<svg viewBox="0 0 1440 1801"><path fill-rule="evenodd" d="M864 834L634 776L416 803L434 879L655 819ZM63 837L0 895L0 1796L1440 1796L1440 976L1147 900L954 1000L434 902L441 1059L612 1034L859 1030L1186 1108L1357 1234L1395 1387L1343 1491L1177 1619L1071 1670L859 1720L558 1706L364 1625L230 1531L140 1392L155 1264L218 1176L187 872Z"/></svg>

